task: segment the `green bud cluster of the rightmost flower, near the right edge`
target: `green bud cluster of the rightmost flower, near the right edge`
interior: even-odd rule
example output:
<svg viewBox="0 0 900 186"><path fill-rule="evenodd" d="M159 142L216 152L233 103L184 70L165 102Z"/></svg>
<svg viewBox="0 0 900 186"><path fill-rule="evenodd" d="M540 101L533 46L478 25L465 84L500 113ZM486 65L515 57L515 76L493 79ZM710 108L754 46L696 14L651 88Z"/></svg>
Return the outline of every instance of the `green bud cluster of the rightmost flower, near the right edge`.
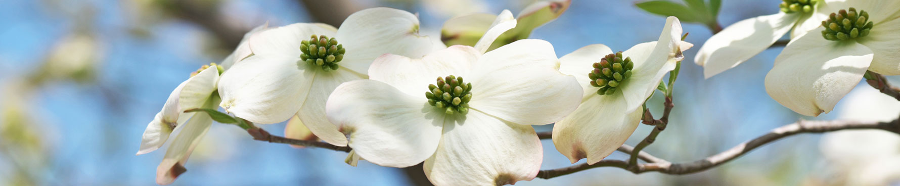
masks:
<svg viewBox="0 0 900 186"><path fill-rule="evenodd" d="M869 21L866 11L857 12L856 8L850 8L832 13L827 21L822 21L822 26L825 27L822 31L825 40L850 40L868 36L875 22Z"/></svg>

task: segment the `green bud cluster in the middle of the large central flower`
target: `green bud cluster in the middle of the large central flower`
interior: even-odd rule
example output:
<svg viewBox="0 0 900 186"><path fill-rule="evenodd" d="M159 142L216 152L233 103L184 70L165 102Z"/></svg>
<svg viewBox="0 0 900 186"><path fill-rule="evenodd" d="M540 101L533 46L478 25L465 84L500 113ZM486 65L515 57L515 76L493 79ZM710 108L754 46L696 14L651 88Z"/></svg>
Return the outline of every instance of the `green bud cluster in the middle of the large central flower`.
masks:
<svg viewBox="0 0 900 186"><path fill-rule="evenodd" d="M426 92L425 97L431 106L446 109L447 114L469 112L472 83L464 83L463 77L437 77L437 84L428 84L428 90L431 92Z"/></svg>

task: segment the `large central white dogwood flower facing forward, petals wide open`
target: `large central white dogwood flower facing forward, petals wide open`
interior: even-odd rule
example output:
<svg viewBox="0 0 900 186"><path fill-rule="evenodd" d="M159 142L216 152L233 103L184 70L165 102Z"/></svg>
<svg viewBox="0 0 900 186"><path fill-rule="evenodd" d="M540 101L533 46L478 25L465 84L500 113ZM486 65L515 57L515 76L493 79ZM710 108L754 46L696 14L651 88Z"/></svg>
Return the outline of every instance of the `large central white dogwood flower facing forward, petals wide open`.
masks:
<svg viewBox="0 0 900 186"><path fill-rule="evenodd" d="M491 30L509 30L496 25L514 26L515 19L504 19L511 17L501 13ZM501 32L488 31L480 43ZM578 106L581 86L557 70L544 40L518 40L483 55L490 46L477 46L378 58L371 80L331 94L329 120L348 135L355 155L392 167L424 161L436 185L530 181L543 150L529 125L562 120Z"/></svg>

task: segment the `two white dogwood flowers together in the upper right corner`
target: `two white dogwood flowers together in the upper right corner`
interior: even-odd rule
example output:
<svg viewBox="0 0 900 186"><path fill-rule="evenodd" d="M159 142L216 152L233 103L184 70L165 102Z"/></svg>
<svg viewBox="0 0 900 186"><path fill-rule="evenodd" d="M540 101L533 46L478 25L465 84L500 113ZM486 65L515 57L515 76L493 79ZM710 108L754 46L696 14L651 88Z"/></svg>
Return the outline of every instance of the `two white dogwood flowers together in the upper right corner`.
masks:
<svg viewBox="0 0 900 186"><path fill-rule="evenodd" d="M785 0L781 13L735 22L700 48L707 78L759 54L791 31L766 92L792 111L832 111L867 71L900 75L900 1Z"/></svg>

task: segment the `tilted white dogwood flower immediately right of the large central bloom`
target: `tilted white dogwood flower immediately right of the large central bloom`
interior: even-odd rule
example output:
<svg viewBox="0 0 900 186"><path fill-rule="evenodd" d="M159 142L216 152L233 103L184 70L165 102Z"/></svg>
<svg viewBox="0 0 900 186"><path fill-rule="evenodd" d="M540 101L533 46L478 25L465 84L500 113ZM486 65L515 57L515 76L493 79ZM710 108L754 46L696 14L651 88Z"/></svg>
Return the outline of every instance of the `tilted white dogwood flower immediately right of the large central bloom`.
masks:
<svg viewBox="0 0 900 186"><path fill-rule="evenodd" d="M560 58L560 72L574 75L584 96L577 110L554 125L556 150L573 164L585 157L595 164L625 143L644 113L641 105L684 58L681 51L692 47L680 37L681 23L669 17L657 41L615 54L607 46L590 45ZM628 63L632 67L619 65ZM603 75L606 69L613 70Z"/></svg>

